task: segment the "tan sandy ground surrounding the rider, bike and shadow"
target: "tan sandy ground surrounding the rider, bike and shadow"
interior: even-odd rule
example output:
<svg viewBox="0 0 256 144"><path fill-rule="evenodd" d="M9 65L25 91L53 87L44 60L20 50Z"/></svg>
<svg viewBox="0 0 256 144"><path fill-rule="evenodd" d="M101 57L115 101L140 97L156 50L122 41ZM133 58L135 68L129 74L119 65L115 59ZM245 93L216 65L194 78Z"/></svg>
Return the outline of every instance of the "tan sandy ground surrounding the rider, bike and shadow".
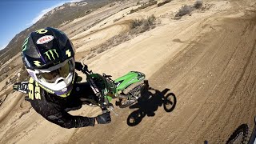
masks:
<svg viewBox="0 0 256 144"><path fill-rule="evenodd" d="M161 24L81 60L91 70L114 78L130 70L142 71L154 89L146 91L143 101L130 109L115 107L118 116L112 114L108 125L66 130L47 122L22 95L11 93L0 107L0 143L225 143L242 123L252 127L256 114L256 2L204 1L209 10L173 19L181 6L193 3L174 0L126 15L118 22L155 14ZM117 14L122 13L126 10ZM114 23L115 18L112 15L102 20L102 24L109 23L106 26L99 24L72 36L78 54L128 30L126 25ZM177 102L170 112L163 107L162 98L167 95ZM90 117L99 113L90 106L72 112ZM130 126L127 119L133 114L141 117L137 125Z"/></svg>

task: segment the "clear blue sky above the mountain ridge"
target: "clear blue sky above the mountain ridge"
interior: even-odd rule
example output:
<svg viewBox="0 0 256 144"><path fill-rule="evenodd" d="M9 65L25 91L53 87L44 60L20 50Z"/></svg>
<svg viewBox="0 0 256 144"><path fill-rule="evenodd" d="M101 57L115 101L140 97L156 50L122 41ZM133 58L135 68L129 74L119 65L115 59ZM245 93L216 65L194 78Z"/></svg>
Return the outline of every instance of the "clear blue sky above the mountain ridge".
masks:
<svg viewBox="0 0 256 144"><path fill-rule="evenodd" d="M32 26L43 14L66 2L81 0L1 0L0 50L22 30Z"/></svg>

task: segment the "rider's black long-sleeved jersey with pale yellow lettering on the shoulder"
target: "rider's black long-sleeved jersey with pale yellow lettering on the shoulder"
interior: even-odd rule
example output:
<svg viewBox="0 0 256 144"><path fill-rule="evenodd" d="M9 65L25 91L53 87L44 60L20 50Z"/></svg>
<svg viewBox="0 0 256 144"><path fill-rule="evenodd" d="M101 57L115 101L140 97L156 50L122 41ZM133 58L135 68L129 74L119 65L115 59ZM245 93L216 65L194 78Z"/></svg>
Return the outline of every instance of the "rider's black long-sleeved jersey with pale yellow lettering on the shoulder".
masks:
<svg viewBox="0 0 256 144"><path fill-rule="evenodd" d="M77 78L76 74L75 80ZM28 83L30 103L43 118L65 128L94 126L94 118L73 116L67 113L67 111L78 110L82 107L80 98L88 98L94 95L88 83L75 82L70 95L62 98L55 94L50 94L42 89L38 82L31 79Z"/></svg>

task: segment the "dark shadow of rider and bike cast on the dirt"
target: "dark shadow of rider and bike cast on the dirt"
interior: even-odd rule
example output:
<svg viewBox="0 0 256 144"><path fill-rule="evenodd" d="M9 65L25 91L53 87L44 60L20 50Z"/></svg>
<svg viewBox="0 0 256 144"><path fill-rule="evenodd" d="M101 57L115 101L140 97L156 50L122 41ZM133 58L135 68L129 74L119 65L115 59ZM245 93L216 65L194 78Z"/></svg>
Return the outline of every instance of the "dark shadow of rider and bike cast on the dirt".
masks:
<svg viewBox="0 0 256 144"><path fill-rule="evenodd" d="M132 112L127 118L128 126L136 126L138 123L142 122L142 118L146 115L148 117L153 117L155 111L158 110L159 106L163 106L166 112L171 112L174 110L177 99L174 93L168 93L170 89L165 89L162 91L155 90L149 87L142 93L142 97L138 99L138 102L130 109L138 109Z"/></svg>

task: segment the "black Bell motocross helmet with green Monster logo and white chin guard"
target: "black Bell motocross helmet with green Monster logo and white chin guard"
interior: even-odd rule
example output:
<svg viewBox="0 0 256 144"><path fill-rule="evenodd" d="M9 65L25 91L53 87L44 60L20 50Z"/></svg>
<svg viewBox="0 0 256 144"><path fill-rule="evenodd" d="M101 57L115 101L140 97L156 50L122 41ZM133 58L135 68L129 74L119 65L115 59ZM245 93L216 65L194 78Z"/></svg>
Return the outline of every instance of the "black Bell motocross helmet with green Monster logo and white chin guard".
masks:
<svg viewBox="0 0 256 144"><path fill-rule="evenodd" d="M26 70L42 89L67 97L74 83L74 48L62 31L46 27L29 34L22 46Z"/></svg>

